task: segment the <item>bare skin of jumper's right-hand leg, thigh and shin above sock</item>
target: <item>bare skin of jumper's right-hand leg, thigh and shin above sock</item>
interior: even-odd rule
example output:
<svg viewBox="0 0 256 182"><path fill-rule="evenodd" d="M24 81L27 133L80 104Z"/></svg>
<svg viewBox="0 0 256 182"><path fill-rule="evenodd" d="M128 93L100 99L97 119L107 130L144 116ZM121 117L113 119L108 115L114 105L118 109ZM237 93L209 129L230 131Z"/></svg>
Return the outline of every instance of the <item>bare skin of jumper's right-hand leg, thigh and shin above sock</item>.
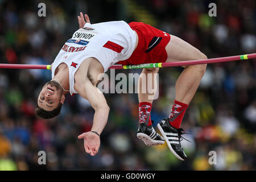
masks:
<svg viewBox="0 0 256 182"><path fill-rule="evenodd" d="M171 35L171 40L166 46L166 52L168 56L166 62L207 59L207 56L200 52L199 49L174 35ZM176 81L175 100L187 105L191 102L201 78L204 76L206 67L207 64L189 65L185 67Z"/></svg>

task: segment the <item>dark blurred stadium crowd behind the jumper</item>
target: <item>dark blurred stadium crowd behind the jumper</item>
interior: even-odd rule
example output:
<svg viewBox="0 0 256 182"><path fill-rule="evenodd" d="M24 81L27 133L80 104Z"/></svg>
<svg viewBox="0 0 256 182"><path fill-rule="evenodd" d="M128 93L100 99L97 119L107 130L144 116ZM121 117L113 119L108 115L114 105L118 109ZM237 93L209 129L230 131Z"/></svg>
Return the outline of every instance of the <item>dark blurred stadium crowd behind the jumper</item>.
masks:
<svg viewBox="0 0 256 182"><path fill-rule="evenodd" d="M46 17L38 3L46 3ZM217 17L208 16L209 3ZM256 52L255 1L93 0L0 1L0 63L51 64L77 30L77 15L91 23L144 22L179 36L208 58ZM255 170L256 61L208 64L181 127L188 159L181 162L167 145L147 147L136 137L137 94L105 94L108 123L96 156L77 139L92 126L93 109L79 96L67 97L59 117L44 121L34 113L49 71L0 69L0 170ZM181 68L159 71L159 98L153 102L154 126L167 117ZM133 71L116 71L134 72ZM46 151L47 165L38 164ZM217 164L208 163L209 151Z"/></svg>

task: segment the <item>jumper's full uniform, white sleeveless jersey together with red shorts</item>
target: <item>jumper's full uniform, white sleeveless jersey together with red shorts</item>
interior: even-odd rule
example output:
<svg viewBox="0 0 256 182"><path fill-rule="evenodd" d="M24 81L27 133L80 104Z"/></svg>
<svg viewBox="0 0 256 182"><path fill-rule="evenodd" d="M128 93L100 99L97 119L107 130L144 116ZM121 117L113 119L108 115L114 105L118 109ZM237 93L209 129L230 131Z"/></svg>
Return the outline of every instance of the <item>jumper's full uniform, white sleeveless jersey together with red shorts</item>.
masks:
<svg viewBox="0 0 256 182"><path fill-rule="evenodd" d="M134 31L139 38L136 49ZM86 58L95 57L104 67L104 72L115 63L162 63L167 59L165 47L169 41L170 34L142 22L86 23L61 48L52 64L52 78L59 64L67 64L69 93L72 95L77 93L73 88L75 72Z"/></svg>

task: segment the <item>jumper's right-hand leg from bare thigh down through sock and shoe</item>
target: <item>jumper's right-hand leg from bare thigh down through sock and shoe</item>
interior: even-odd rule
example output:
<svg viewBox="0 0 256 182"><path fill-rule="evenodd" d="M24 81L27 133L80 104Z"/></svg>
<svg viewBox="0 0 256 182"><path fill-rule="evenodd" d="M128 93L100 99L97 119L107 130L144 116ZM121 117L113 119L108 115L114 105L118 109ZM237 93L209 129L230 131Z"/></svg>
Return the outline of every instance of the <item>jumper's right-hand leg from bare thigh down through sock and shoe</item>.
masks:
<svg viewBox="0 0 256 182"><path fill-rule="evenodd" d="M171 35L171 40L166 46L166 52L167 62L207 59L207 56L197 48L174 35ZM158 123L158 129L166 140L168 147L180 160L187 158L180 144L181 134L183 134L183 130L180 129L181 121L188 104L196 93L201 78L204 76L206 67L206 64L184 67L185 69L175 84L176 96L169 118Z"/></svg>

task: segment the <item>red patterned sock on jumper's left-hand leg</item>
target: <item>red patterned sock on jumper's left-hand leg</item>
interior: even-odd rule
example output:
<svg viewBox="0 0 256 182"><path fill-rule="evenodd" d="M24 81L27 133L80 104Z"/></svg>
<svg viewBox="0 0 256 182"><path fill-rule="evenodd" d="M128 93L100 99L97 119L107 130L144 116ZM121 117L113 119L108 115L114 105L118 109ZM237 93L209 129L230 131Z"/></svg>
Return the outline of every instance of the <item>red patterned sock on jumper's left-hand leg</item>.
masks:
<svg viewBox="0 0 256 182"><path fill-rule="evenodd" d="M139 103L139 124L146 123L147 126L152 125L150 113L152 104L150 102Z"/></svg>

